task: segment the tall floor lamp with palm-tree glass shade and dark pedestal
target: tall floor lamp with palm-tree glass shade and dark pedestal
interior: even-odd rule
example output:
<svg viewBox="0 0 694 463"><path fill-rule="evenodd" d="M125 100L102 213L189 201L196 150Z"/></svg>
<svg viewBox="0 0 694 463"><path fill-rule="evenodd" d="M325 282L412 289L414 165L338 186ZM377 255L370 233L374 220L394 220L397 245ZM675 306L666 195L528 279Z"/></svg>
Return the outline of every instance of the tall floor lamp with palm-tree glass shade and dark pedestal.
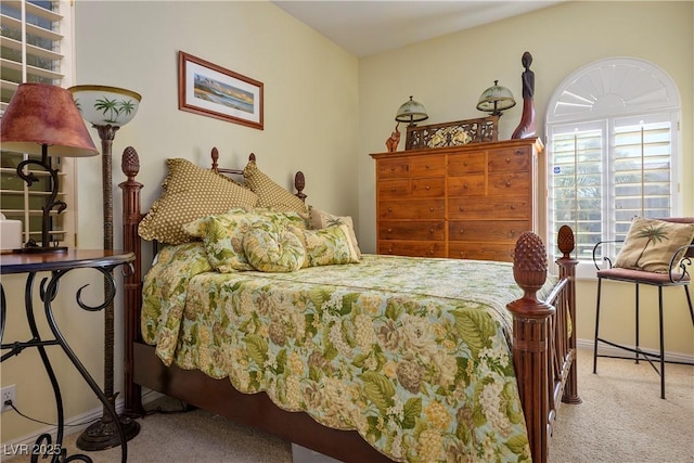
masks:
<svg viewBox="0 0 694 463"><path fill-rule="evenodd" d="M118 129L136 115L140 100L138 93L116 87L76 86L68 89L85 120L99 132L101 139L101 171L103 187L104 249L113 249L113 182L111 147ZM104 286L104 291L106 291ZM104 395L115 407L114 393L114 306L104 309ZM120 426L127 440L140 432L140 424L120 416ZM77 438L81 450L105 450L120 445L111 415L104 410L99 422L90 425Z"/></svg>

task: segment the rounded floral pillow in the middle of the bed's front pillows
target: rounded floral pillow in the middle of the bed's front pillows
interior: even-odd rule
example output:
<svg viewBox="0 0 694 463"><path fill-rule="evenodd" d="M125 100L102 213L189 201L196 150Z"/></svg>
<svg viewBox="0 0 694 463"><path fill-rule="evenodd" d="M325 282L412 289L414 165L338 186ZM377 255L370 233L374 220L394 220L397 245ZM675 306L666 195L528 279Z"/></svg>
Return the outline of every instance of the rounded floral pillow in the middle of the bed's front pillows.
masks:
<svg viewBox="0 0 694 463"><path fill-rule="evenodd" d="M304 267L306 249L299 237L285 227L258 222L243 236L248 263L261 272L293 272Z"/></svg>

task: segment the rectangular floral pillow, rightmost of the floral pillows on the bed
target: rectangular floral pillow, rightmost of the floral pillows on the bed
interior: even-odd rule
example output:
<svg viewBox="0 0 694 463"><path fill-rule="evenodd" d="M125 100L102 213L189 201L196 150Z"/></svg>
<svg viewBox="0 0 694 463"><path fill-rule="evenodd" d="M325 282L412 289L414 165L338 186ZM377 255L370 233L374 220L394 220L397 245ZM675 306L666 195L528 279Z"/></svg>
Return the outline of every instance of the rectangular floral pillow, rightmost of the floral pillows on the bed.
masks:
<svg viewBox="0 0 694 463"><path fill-rule="evenodd" d="M346 224L304 230L308 267L351 263L360 260Z"/></svg>

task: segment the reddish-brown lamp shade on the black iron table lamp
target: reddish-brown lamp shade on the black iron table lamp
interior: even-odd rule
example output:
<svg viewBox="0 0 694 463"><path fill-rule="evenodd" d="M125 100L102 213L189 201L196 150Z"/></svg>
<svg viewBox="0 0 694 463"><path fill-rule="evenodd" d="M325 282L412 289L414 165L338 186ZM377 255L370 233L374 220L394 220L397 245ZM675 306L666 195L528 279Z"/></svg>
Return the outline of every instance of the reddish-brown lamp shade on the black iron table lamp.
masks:
<svg viewBox="0 0 694 463"><path fill-rule="evenodd" d="M50 156L99 154L73 95L48 83L21 83L1 121L2 149Z"/></svg>

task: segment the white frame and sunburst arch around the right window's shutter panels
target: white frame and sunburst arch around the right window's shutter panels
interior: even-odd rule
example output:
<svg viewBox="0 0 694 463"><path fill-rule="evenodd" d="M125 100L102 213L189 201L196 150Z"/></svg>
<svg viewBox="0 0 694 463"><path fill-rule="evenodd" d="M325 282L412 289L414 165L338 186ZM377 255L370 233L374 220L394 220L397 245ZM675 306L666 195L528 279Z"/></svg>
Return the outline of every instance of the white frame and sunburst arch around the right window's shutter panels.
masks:
<svg viewBox="0 0 694 463"><path fill-rule="evenodd" d="M679 168L681 153L681 105L674 81L653 63L630 59L614 57L596 61L573 73L554 91L549 102L547 115L547 150L548 150L548 231L549 249L556 249L555 229L562 223L553 223L554 204L553 178L554 137L571 130L587 127L600 130L602 137L602 155L612 156L615 151L615 123L630 119L635 124L646 124L656 119L670 124L670 216L681 214L681 183L683 172ZM607 169L602 171L603 200L614 203L614 164L611 160ZM603 163L605 166L605 163ZM600 240L624 239L626 231L617 232L613 217L604 217L611 207L603 206L603 232ZM567 223L573 226L573 223ZM578 242L578 240L577 240ZM615 257L619 247L606 247L602 255ZM558 252L556 252L558 254ZM551 255L554 261L557 255ZM592 256L575 255L579 259L578 278L595 278Z"/></svg>

